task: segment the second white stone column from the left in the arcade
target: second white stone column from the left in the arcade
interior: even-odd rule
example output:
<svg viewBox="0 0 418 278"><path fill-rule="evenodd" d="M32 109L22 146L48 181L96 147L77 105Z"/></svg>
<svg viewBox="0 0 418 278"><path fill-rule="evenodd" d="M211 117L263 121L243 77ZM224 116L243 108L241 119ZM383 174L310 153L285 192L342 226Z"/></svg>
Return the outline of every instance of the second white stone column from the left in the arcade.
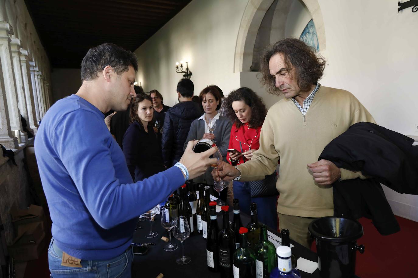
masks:
<svg viewBox="0 0 418 278"><path fill-rule="evenodd" d="M17 38L10 38L10 46L12 49L13 70L16 80L16 93L18 96L18 108L20 115L28 121L28 108L26 108L25 92L23 91L22 68L20 67L20 40ZM29 127L28 127L29 128ZM22 130L20 134L21 142L28 142L28 134Z"/></svg>

